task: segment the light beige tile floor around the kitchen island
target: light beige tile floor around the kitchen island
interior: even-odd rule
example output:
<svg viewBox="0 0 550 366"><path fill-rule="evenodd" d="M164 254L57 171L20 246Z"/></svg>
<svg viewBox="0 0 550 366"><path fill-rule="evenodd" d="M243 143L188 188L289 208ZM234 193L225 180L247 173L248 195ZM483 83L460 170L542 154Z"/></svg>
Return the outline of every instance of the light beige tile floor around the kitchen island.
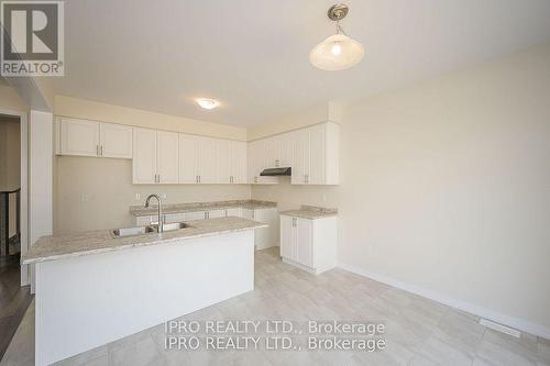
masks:
<svg viewBox="0 0 550 366"><path fill-rule="evenodd" d="M479 318L354 274L310 275L280 262L277 248L256 253L255 290L183 320L382 321L386 348L367 352L166 351L164 325L65 359L59 365L537 365L550 366L550 342L515 339ZM1 365L32 365L33 309ZM301 324L301 323L300 323Z"/></svg>

